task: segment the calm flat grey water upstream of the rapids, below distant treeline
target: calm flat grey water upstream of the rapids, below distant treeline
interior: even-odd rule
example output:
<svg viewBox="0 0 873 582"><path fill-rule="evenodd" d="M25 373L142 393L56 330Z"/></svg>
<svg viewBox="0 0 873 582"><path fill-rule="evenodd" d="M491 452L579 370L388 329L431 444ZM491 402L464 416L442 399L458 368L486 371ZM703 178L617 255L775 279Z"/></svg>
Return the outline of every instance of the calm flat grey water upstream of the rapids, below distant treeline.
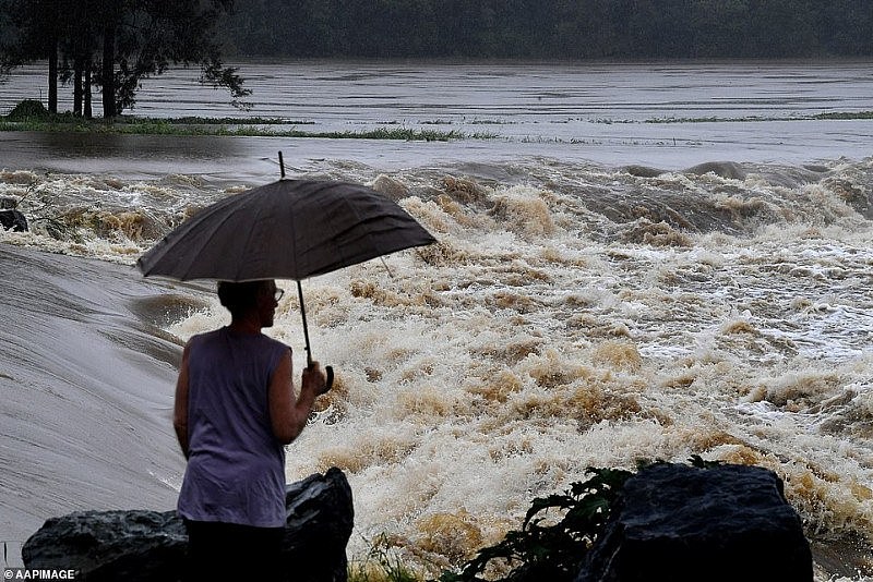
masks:
<svg viewBox="0 0 873 582"><path fill-rule="evenodd" d="M158 118L259 116L310 132L410 128L488 135L449 144L288 138L154 140L0 135L3 165L69 171L244 174L282 149L295 168L350 159L384 169L543 156L681 169L713 160L804 163L871 153L873 121L816 121L873 109L873 65L836 63L409 64L239 63L253 94L247 112L175 70L146 80L128 113ZM0 111L45 96L45 70L0 85ZM62 92L69 93L69 92ZM70 108L62 101L60 108ZM240 168L242 166L242 168Z"/></svg>

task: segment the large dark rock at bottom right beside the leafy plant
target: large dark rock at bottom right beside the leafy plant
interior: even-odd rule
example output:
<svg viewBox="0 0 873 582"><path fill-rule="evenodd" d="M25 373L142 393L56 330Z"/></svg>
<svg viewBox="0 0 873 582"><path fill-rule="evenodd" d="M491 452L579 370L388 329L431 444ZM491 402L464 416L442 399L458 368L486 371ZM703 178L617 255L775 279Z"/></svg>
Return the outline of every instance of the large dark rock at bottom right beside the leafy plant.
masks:
<svg viewBox="0 0 873 582"><path fill-rule="evenodd" d="M627 480L576 582L813 580L782 482L758 466L658 463Z"/></svg>

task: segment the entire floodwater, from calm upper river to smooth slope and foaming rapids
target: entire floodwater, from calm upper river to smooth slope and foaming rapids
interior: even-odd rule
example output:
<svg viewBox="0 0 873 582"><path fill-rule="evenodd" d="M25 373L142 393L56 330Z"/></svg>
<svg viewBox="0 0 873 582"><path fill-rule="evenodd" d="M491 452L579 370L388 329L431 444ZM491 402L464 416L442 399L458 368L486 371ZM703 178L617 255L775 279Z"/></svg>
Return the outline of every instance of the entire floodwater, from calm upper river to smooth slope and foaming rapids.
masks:
<svg viewBox="0 0 873 582"><path fill-rule="evenodd" d="M381 538L456 565L588 466L701 454L785 480L817 580L873 575L873 121L813 119L873 110L869 65L248 66L250 114L306 131L490 137L0 134L0 196L32 227L0 232L0 537L174 507L180 345L227 317L132 265L283 150L439 240L304 282L337 381L287 475L346 472L352 557ZM174 75L133 113L235 114ZM295 293L270 334L299 369Z"/></svg>

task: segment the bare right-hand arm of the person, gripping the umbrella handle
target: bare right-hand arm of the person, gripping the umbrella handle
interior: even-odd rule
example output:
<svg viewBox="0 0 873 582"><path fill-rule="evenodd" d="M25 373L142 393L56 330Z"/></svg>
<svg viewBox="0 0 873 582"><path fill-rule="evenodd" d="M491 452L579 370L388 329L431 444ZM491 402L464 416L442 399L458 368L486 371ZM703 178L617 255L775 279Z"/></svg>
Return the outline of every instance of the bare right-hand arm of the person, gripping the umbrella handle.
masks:
<svg viewBox="0 0 873 582"><path fill-rule="evenodd" d="M312 412L315 397L326 391L325 376L318 362L303 371L299 398L291 380L292 374L291 351L288 350L270 379L270 422L273 435L283 445L288 445L300 435Z"/></svg>

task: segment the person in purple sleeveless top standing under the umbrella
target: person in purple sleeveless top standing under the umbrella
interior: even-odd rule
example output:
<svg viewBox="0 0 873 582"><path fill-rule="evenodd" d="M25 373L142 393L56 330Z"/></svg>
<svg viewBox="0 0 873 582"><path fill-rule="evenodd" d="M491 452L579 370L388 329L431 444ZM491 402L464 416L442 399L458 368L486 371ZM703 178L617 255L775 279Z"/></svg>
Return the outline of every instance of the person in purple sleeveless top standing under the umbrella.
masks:
<svg viewBox="0 0 873 582"><path fill-rule="evenodd" d="M280 579L285 445L330 389L312 362L296 397L290 348L261 332L282 294L274 280L219 282L230 324L182 352L174 427L188 461L177 505L188 580Z"/></svg>

